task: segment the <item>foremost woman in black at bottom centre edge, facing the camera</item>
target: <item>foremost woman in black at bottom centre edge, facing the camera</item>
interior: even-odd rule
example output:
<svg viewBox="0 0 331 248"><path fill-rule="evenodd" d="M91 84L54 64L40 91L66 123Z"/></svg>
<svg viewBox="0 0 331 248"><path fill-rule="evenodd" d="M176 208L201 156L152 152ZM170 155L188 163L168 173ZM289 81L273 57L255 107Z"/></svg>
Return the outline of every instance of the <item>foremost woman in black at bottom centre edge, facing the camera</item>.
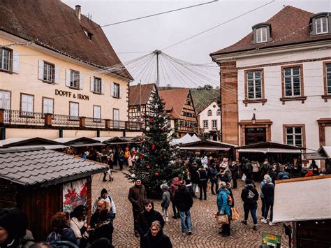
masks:
<svg viewBox="0 0 331 248"><path fill-rule="evenodd" d="M160 221L153 221L151 228L142 240L141 248L172 248L168 235L162 231Z"/></svg>

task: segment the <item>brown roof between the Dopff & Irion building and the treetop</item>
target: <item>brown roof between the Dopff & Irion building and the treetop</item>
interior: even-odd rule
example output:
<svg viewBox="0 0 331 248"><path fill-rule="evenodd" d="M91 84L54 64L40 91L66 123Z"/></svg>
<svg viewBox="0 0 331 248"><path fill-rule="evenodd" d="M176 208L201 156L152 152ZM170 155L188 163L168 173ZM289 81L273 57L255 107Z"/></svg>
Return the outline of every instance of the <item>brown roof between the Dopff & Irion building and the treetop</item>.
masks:
<svg viewBox="0 0 331 248"><path fill-rule="evenodd" d="M129 89L128 104L130 106L146 104L155 89L155 84L132 85Z"/></svg>

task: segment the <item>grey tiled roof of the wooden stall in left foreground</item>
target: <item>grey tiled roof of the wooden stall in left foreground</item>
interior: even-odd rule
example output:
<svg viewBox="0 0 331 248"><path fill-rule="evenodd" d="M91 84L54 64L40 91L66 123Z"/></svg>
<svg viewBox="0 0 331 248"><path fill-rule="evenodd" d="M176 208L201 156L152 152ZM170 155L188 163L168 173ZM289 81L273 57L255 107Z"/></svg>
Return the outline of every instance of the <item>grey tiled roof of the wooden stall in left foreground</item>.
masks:
<svg viewBox="0 0 331 248"><path fill-rule="evenodd" d="M107 168L94 161L43 147L0 149L0 178L24 186L46 187L105 170Z"/></svg>

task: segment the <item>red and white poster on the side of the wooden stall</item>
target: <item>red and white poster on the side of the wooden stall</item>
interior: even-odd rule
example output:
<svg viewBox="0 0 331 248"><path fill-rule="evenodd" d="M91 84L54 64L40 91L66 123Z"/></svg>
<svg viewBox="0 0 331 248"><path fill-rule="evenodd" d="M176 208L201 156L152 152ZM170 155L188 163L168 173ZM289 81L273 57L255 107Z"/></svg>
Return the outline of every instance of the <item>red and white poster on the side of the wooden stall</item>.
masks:
<svg viewBox="0 0 331 248"><path fill-rule="evenodd" d="M87 180L63 184L63 211L72 212L78 205L87 205Z"/></svg>

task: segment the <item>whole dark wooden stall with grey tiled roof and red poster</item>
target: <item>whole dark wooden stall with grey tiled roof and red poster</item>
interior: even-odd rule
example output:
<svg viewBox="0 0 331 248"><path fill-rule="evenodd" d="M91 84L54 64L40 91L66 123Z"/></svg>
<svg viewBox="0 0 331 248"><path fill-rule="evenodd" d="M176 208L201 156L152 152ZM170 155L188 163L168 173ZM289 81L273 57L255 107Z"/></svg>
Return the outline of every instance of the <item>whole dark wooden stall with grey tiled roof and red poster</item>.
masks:
<svg viewBox="0 0 331 248"><path fill-rule="evenodd" d="M0 149L0 208L20 208L34 238L45 240L56 212L83 204L90 217L91 175L105 170L94 161L44 147Z"/></svg>

